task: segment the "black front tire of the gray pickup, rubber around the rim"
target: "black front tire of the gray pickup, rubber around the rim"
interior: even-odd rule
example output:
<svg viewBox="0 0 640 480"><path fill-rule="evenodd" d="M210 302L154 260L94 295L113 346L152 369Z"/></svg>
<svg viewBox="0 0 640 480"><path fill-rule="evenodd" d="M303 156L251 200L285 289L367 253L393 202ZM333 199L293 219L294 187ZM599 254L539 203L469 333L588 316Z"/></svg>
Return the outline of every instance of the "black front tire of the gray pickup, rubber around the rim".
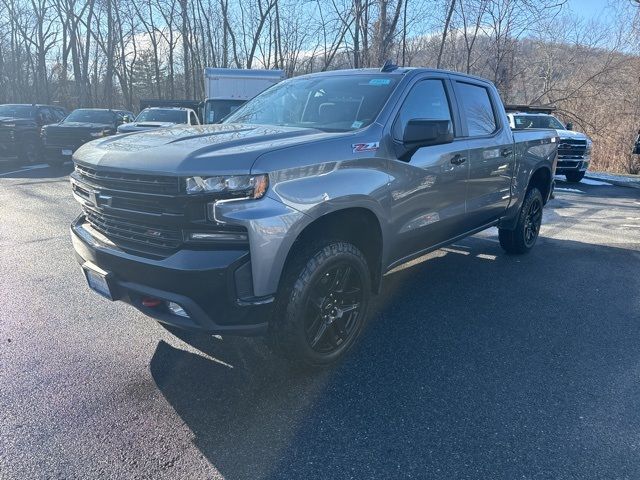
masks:
<svg viewBox="0 0 640 480"><path fill-rule="evenodd" d="M358 339L367 320L371 300L371 273L362 252L340 240L314 242L293 254L284 272L274 315L269 323L268 345L279 356L298 368L325 367L344 357ZM320 354L311 348L305 332L309 295L327 270L345 262L359 276L362 284L362 306L354 331L335 352Z"/></svg>

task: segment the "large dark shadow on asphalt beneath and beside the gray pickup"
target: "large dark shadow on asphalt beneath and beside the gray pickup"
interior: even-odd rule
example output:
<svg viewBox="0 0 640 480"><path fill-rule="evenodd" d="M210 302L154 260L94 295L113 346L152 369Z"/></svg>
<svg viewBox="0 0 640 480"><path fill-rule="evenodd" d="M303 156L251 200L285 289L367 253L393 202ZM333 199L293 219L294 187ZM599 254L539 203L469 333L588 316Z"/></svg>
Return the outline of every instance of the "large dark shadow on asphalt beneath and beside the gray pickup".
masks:
<svg viewBox="0 0 640 480"><path fill-rule="evenodd" d="M638 478L639 271L633 250L472 237L388 275L332 370L187 335L151 374L228 480Z"/></svg>

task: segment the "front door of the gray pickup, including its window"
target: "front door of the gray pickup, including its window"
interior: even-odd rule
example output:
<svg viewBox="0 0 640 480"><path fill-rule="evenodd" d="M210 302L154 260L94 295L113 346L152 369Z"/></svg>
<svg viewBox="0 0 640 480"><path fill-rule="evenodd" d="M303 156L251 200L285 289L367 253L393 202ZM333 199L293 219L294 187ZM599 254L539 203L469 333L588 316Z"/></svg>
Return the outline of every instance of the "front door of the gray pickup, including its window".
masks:
<svg viewBox="0 0 640 480"><path fill-rule="evenodd" d="M448 120L454 134L460 132L448 85L446 78L424 78L410 88L392 126L396 152L403 151L402 135L412 119ZM393 260L463 233L467 159L466 140L455 138L390 160L391 218L398 239Z"/></svg>

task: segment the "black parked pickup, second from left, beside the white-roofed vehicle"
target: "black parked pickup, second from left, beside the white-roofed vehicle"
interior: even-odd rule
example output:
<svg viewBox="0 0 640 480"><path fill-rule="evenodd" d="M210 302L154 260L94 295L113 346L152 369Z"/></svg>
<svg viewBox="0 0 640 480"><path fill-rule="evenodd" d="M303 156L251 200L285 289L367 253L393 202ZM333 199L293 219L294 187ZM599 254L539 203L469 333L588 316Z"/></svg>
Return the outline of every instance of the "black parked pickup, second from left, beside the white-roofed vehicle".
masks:
<svg viewBox="0 0 640 480"><path fill-rule="evenodd" d="M71 160L78 147L96 138L116 133L133 114L126 110L79 108L59 123L42 127L45 161L52 166Z"/></svg>

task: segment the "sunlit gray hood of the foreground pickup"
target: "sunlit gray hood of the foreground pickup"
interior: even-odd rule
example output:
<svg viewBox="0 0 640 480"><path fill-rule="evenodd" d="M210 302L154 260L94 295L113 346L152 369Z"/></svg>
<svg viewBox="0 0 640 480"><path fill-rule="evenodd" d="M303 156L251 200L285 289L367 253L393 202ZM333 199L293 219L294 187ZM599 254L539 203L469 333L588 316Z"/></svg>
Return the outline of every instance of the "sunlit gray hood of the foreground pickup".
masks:
<svg viewBox="0 0 640 480"><path fill-rule="evenodd" d="M342 133L310 128L216 124L146 130L85 144L73 159L102 169L165 175L246 174L263 153Z"/></svg>

